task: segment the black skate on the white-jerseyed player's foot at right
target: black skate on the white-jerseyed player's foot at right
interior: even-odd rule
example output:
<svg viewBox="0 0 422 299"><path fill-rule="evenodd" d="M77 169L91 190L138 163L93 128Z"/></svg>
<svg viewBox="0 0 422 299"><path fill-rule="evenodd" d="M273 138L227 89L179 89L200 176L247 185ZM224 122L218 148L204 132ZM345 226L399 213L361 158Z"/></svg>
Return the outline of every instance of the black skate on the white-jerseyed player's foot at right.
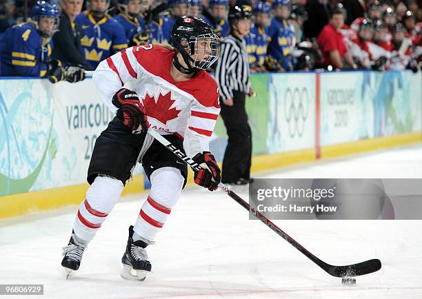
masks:
<svg viewBox="0 0 422 299"><path fill-rule="evenodd" d="M121 258L123 269L120 276L128 280L145 280L148 273L151 271L151 263L148 260L145 247L148 243L142 240L133 240L133 225L129 227L129 238L126 251Z"/></svg>

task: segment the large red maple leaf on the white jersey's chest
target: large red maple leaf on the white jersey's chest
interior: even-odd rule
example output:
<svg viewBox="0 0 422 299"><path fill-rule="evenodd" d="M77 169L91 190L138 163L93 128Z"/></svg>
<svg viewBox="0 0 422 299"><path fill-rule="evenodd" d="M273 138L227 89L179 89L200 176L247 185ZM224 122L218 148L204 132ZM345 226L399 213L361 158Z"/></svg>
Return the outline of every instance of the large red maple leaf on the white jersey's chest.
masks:
<svg viewBox="0 0 422 299"><path fill-rule="evenodd" d="M168 121L177 118L179 112L181 112L181 110L177 110L175 107L170 109L173 103L174 100L172 100L170 90L166 94L161 94L160 90L157 102L155 101L154 96L150 96L148 92L143 99L143 106L145 107L147 115L157 119L157 121L163 123L163 125L167 125Z"/></svg>

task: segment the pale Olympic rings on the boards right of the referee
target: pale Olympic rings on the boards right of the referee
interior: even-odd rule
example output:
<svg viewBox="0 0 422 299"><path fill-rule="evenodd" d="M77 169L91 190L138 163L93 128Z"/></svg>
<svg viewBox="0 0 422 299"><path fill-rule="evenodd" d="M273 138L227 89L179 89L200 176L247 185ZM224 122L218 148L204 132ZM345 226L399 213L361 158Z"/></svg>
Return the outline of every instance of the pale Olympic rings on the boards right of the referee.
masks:
<svg viewBox="0 0 422 299"><path fill-rule="evenodd" d="M284 94L284 117L288 122L289 134L291 138L294 136L301 137L305 130L305 122L308 118L310 109L310 99L306 87L290 87Z"/></svg>

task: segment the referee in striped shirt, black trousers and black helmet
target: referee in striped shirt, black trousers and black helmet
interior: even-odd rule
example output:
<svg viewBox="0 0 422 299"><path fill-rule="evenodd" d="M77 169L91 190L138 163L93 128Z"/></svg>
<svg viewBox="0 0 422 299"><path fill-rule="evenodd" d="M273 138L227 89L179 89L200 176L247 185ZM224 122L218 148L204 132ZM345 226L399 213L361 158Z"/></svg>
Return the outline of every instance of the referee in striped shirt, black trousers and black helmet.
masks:
<svg viewBox="0 0 422 299"><path fill-rule="evenodd" d="M252 133L245 111L246 94L252 96L249 61L243 37L249 33L250 6L230 8L230 33L221 43L215 77L219 84L221 117L227 128L228 145L223 158L221 182L245 185L250 181Z"/></svg>

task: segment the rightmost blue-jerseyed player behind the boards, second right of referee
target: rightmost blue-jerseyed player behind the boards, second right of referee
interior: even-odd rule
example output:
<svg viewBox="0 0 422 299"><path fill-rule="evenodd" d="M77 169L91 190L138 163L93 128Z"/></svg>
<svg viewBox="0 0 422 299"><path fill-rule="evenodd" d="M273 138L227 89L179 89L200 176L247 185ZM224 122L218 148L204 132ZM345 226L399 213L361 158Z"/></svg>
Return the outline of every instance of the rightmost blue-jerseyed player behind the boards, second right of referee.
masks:
<svg viewBox="0 0 422 299"><path fill-rule="evenodd" d="M268 27L271 41L265 62L281 65L281 70L293 70L292 48L296 44L296 38L292 24L287 21L290 15L290 0L274 0L272 7L274 17Z"/></svg>

